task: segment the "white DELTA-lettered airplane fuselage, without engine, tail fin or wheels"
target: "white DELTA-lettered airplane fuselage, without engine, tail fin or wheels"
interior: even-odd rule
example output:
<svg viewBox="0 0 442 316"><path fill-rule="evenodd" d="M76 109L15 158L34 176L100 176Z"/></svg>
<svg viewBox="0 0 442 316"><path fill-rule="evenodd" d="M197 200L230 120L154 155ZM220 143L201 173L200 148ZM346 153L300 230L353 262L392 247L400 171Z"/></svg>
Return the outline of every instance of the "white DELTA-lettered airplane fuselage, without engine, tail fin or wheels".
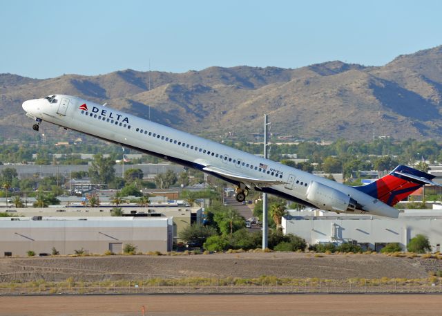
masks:
<svg viewBox="0 0 442 316"><path fill-rule="evenodd" d="M55 95L55 101L51 103L46 99L29 100L23 103L23 109L31 118L41 119L67 129L144 151L187 167L202 170L206 166L213 166L231 170L236 174L250 178L278 180L283 184L258 187L257 189L298 203L323 208L322 205L318 205L314 201L307 201L306 198L309 185L316 182L343 192L356 200L359 205L364 205L363 211L355 210L354 213L397 217L397 210L393 207L353 187L107 106L88 102L79 97ZM81 106L83 106L82 109ZM220 176L220 174L213 175L240 185L240 183Z"/></svg>

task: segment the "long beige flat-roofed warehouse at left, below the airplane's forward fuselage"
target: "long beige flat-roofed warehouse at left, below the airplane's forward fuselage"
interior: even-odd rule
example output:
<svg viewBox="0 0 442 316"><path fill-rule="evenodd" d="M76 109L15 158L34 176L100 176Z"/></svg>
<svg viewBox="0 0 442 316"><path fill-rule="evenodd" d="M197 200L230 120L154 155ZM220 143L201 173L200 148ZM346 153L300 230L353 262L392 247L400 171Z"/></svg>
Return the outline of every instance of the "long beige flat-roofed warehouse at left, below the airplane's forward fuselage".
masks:
<svg viewBox="0 0 442 316"><path fill-rule="evenodd" d="M137 252L172 250L173 223L167 217L12 217L0 219L0 254L5 257L74 254L83 249L90 254L110 250L121 253L124 245Z"/></svg>

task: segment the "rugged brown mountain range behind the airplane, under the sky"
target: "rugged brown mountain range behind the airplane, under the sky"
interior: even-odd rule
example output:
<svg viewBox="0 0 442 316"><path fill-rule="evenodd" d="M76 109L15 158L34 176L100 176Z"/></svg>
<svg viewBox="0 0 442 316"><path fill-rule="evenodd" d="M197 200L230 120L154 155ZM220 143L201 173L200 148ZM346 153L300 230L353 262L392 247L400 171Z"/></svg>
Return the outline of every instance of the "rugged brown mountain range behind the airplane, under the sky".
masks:
<svg viewBox="0 0 442 316"><path fill-rule="evenodd" d="M385 66L339 61L297 69L237 66L186 73L127 69L36 80L0 74L0 132L34 134L21 103L66 93L215 140L251 139L269 114L271 133L298 139L442 140L442 46ZM41 131L55 127L41 124ZM57 137L69 132L57 129Z"/></svg>

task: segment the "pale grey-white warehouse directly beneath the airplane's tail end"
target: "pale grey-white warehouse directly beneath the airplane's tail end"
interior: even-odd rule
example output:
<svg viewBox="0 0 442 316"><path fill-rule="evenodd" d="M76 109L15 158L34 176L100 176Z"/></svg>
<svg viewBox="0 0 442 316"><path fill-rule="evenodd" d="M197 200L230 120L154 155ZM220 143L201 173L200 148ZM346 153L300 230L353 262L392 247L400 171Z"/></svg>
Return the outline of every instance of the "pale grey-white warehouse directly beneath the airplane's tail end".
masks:
<svg viewBox="0 0 442 316"><path fill-rule="evenodd" d="M381 250L387 243L400 243L403 250L416 234L428 237L432 251L441 250L442 212L407 210L398 219L320 211L289 211L282 218L285 234L295 234L316 243L358 243L363 249Z"/></svg>

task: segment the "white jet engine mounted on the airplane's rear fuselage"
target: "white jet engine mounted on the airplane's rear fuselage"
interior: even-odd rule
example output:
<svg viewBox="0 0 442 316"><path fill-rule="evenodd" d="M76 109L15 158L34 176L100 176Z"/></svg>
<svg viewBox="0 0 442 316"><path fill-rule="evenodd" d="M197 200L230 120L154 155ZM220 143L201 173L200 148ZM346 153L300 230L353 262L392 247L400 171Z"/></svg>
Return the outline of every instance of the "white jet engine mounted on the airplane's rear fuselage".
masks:
<svg viewBox="0 0 442 316"><path fill-rule="evenodd" d="M357 205L357 202L345 193L316 181L309 185L306 198L321 210L332 212L354 212Z"/></svg>

